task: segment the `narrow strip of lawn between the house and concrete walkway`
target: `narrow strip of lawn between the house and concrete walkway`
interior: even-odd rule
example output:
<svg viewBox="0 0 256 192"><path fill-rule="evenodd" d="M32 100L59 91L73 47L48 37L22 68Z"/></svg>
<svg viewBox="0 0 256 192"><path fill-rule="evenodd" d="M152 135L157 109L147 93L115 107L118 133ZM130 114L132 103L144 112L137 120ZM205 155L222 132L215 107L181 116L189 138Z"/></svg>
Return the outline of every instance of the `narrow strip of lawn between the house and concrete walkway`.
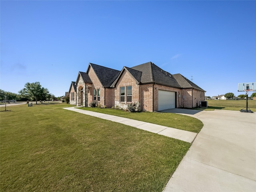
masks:
<svg viewBox="0 0 256 192"><path fill-rule="evenodd" d="M191 131L199 133L203 127L203 123L193 117L184 116L174 113L156 113L156 112L128 112L124 110L111 109L111 108L92 108L80 107L83 110L90 110L104 114L110 114L134 120L154 123L158 125L168 126L176 129Z"/></svg>

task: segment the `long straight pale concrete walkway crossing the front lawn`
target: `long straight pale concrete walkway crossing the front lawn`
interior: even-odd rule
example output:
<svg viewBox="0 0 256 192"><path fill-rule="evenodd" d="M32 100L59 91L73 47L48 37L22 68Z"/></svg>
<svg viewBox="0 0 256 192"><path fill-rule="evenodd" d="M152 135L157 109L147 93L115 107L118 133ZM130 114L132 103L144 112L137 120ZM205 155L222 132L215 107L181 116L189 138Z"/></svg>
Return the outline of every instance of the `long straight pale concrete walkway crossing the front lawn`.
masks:
<svg viewBox="0 0 256 192"><path fill-rule="evenodd" d="M133 127L136 127L136 128L142 129L142 130L146 130L146 131L157 133L157 134L164 135L167 137L179 139L179 140L186 141L189 143L192 143L197 135L194 132L175 129L175 128L157 125L157 124L153 124L153 123L142 122L142 121L138 121L138 120L132 120L132 119L118 117L118 116L114 116L114 115L108 115L108 114L92 112L92 111L88 111L88 110L82 110L82 109L78 109L76 107L66 107L64 109L79 112L79 113L94 116L94 117L98 117L98 118L102 118L102 119L106 119L106 120L110 120L110 121L114 121L114 122L118 122L118 123L129 125L129 126L133 126Z"/></svg>

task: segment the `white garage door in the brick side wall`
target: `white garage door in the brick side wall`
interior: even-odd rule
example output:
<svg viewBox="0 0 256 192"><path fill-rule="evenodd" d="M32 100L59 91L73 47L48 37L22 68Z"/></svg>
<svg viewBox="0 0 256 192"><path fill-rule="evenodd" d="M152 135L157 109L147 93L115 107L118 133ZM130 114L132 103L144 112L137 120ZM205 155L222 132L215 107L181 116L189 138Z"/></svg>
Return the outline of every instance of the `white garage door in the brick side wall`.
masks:
<svg viewBox="0 0 256 192"><path fill-rule="evenodd" d="M175 92L158 90L158 110L175 108Z"/></svg>

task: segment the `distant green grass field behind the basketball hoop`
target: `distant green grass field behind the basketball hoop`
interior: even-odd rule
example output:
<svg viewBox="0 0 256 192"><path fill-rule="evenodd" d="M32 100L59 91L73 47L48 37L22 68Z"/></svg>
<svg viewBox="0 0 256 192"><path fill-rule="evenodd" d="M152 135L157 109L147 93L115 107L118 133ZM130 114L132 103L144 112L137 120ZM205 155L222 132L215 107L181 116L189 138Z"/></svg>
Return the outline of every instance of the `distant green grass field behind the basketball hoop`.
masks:
<svg viewBox="0 0 256 192"><path fill-rule="evenodd" d="M206 100L208 109L239 111L246 107L246 100ZM248 107L256 112L256 100L248 100ZM246 108L245 108L246 109Z"/></svg>

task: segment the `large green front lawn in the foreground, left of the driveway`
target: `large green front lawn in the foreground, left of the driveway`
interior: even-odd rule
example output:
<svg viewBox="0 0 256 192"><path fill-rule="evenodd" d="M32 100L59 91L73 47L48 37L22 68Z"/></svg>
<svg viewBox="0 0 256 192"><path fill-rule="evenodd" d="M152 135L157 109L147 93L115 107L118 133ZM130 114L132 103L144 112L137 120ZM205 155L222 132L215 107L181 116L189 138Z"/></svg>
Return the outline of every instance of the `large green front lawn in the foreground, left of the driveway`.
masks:
<svg viewBox="0 0 256 192"><path fill-rule="evenodd" d="M190 147L67 106L0 108L0 191L162 192Z"/></svg>

